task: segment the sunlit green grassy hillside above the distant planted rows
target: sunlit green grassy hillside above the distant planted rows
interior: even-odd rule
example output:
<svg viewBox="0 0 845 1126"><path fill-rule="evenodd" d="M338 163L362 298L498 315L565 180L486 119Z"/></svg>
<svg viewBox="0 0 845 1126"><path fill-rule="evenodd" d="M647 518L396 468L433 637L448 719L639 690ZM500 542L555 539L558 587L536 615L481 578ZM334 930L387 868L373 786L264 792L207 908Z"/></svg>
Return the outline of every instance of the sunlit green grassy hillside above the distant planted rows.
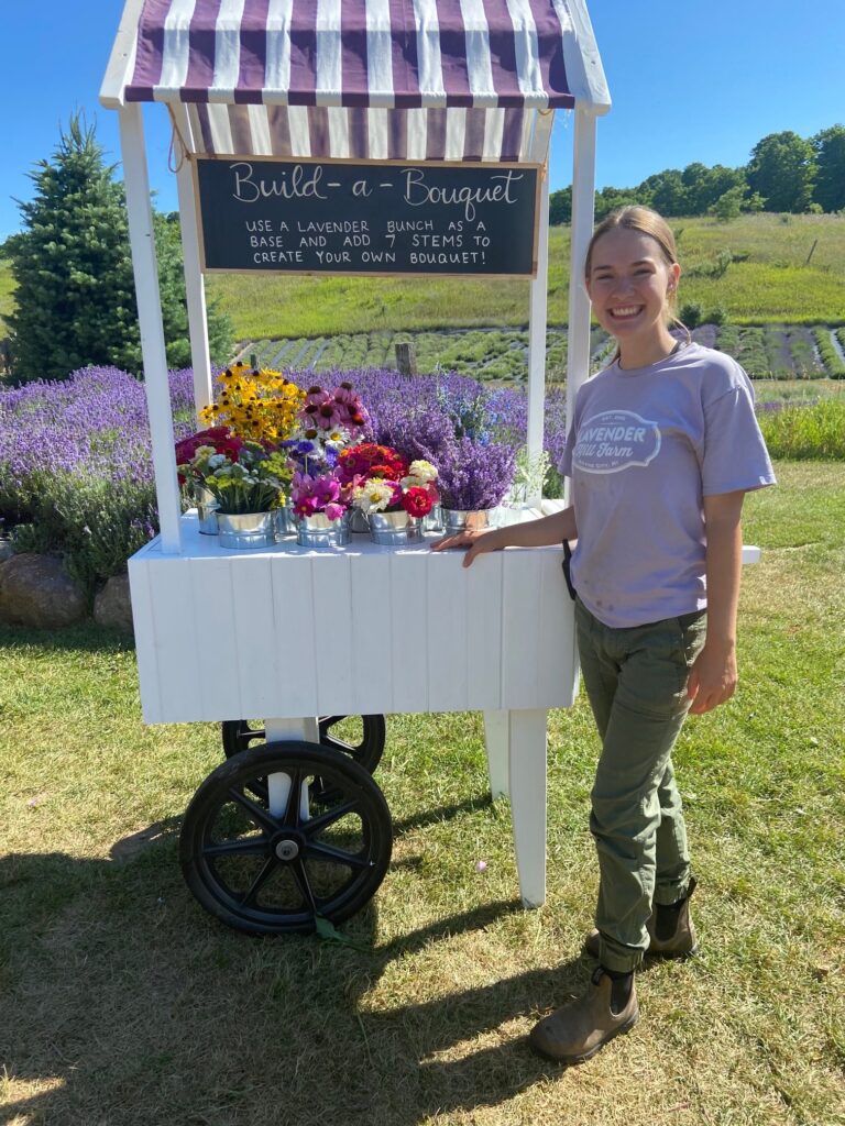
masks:
<svg viewBox="0 0 845 1126"><path fill-rule="evenodd" d="M745 215L730 223L686 218L673 225L685 271L682 304L697 302L705 318L721 306L733 324L845 323L845 217ZM552 324L567 319L568 257L569 229L552 227ZM513 328L528 319L524 280L231 274L211 276L207 289L242 340ZM11 309L12 291L9 263L0 260L0 321Z"/></svg>

